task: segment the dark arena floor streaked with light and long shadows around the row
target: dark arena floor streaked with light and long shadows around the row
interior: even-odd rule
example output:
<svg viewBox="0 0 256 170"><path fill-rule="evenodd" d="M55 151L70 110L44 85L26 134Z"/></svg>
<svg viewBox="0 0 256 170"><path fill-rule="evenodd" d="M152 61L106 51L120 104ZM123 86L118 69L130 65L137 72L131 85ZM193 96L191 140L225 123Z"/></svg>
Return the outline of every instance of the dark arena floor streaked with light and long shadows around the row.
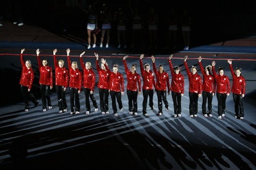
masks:
<svg viewBox="0 0 256 170"><path fill-rule="evenodd" d="M0 169L256 169L256 38L230 39L211 44L191 46L189 50L141 50L95 47L88 50L87 43L72 35L56 35L44 28L24 25L17 28L6 21L0 27ZM125 91L122 96L123 110L115 117L109 98L110 114L90 112L86 115L84 93L80 94L81 112L70 115L58 113L55 87L51 90L53 108L42 112L41 100L37 107L24 112L24 102L19 88L22 72L20 49L26 48L24 59L32 61L35 71L33 93L40 100L39 71L35 50L40 48L40 57L47 58L53 67L53 50L57 48L57 59L63 59L67 66L66 49L71 49L71 60L78 61L83 51L84 61L90 61L96 74L96 57L104 58L109 65L119 64L124 76ZM126 75L122 64L125 55L128 66L137 63L145 54L143 63L150 63L151 55L156 65L163 64L170 75L168 57L174 54L173 65L181 67L185 78L185 92L182 97L182 116L174 117L172 96L168 95L169 110L158 116L157 95L154 94L155 109L148 106L148 116L142 114L143 95L138 96L138 115L130 115L126 95ZM226 114L218 119L217 98L212 101L213 117L202 115L202 97L198 101L198 117L189 117L188 78L183 58L188 55L189 66L198 66L202 56L204 66L215 60L224 67L224 74L230 79L227 59L233 67L241 67L246 80L244 119L234 117L232 94L227 97ZM54 72L54 71L53 71ZM137 72L140 74L139 67ZM200 69L198 74L201 75ZM171 76L170 76L171 80ZM143 82L143 81L142 81ZM94 96L99 105L98 88ZM66 93L68 107L69 89ZM33 105L32 103L30 103ZM91 108L92 106L91 103Z"/></svg>

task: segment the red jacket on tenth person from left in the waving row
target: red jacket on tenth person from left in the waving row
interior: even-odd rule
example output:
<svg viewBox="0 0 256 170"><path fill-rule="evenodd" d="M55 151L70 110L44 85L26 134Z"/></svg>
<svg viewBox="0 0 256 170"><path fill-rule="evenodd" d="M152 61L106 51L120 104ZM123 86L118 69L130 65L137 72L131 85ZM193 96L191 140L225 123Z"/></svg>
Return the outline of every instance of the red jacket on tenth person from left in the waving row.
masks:
<svg viewBox="0 0 256 170"><path fill-rule="evenodd" d="M169 81L168 73L163 71L161 74L157 70L155 63L153 63L153 69L156 74L156 90L166 91L166 84L167 84L167 90L168 92L170 92L170 81Z"/></svg>

